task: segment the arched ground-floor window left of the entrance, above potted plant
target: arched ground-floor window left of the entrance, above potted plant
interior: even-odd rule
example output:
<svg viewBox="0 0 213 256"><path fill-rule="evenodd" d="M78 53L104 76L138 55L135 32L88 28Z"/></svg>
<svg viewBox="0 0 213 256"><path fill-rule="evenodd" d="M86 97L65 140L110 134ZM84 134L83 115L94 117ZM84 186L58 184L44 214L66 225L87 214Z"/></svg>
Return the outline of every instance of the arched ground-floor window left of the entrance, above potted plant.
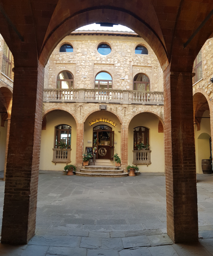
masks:
<svg viewBox="0 0 213 256"><path fill-rule="evenodd" d="M71 145L71 126L67 124L60 124L55 127L55 148L57 147L57 142L64 142L70 148Z"/></svg>

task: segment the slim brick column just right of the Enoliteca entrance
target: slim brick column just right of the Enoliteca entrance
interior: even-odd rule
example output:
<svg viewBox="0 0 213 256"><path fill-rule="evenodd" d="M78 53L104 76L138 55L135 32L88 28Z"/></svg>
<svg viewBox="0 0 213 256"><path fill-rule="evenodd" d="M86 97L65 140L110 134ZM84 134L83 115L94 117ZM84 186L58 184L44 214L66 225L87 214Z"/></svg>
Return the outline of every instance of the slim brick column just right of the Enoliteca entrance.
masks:
<svg viewBox="0 0 213 256"><path fill-rule="evenodd" d="M128 129L128 125L121 124L121 168L124 172L127 172L128 165Z"/></svg>

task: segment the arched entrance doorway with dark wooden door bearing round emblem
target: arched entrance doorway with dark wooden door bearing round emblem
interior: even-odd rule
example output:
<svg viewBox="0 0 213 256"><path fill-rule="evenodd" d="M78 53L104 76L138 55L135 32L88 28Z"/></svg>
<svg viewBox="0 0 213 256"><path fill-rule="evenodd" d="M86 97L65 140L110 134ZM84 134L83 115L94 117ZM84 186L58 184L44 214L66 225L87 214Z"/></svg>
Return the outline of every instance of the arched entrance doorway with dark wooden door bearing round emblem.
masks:
<svg viewBox="0 0 213 256"><path fill-rule="evenodd" d="M93 147L96 159L111 159L114 155L114 131L106 125L93 127Z"/></svg>

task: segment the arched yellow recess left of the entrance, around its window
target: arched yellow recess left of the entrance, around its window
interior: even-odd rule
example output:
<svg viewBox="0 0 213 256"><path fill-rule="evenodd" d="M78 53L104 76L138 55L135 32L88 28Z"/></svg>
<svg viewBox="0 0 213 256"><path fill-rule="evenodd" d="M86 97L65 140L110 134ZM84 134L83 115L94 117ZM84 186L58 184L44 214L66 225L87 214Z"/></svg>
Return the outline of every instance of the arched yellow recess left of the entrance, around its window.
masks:
<svg viewBox="0 0 213 256"><path fill-rule="evenodd" d="M40 148L40 170L63 170L67 163L76 163L76 138L77 138L77 123L75 117L64 109L49 109L45 111L43 122L46 119L45 129L42 129L41 135L41 148ZM61 124L66 124L71 127L71 152L70 158L59 159L55 158L55 138L56 127ZM43 123L44 126L44 123ZM61 141L63 138L57 141ZM65 143L66 144L66 143ZM59 155L59 153L57 153ZM64 154L64 151L62 152ZM63 162L64 161L64 162ZM67 162L66 162L67 161Z"/></svg>

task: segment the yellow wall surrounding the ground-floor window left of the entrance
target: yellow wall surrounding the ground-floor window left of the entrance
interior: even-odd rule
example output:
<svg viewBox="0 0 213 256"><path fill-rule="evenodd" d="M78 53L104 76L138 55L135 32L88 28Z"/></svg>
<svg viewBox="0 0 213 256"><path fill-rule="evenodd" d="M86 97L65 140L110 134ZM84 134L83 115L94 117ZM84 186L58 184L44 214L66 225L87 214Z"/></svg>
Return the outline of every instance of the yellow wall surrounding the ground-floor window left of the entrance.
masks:
<svg viewBox="0 0 213 256"><path fill-rule="evenodd" d="M63 170L64 163L55 163L53 160L53 148L55 141L55 126L67 124L72 127L71 132L71 164L76 162L76 122L71 114L65 111L53 111L47 114L47 128L42 130L41 152L40 152L40 170Z"/></svg>

